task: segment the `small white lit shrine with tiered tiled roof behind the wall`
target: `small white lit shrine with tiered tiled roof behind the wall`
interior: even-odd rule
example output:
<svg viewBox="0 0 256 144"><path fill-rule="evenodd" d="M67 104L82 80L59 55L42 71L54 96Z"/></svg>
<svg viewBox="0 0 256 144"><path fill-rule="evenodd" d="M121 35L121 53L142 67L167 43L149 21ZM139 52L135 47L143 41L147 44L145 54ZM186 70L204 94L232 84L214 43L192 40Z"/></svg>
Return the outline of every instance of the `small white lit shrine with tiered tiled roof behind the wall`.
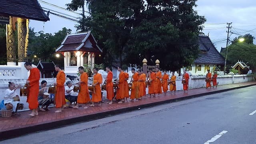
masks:
<svg viewBox="0 0 256 144"><path fill-rule="evenodd" d="M77 76L79 66L88 63L94 67L95 54L102 53L91 32L68 34L56 52L64 56L64 71L66 74Z"/></svg>

